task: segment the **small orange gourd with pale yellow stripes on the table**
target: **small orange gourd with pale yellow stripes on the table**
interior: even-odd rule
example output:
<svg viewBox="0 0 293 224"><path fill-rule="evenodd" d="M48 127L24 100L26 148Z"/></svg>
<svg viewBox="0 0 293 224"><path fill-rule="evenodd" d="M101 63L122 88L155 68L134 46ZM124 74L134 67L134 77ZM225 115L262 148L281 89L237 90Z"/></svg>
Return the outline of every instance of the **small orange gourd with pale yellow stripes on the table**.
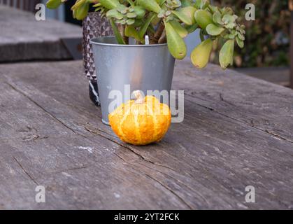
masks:
<svg viewBox="0 0 293 224"><path fill-rule="evenodd" d="M113 132L136 146L160 141L171 125L169 106L152 96L146 96L141 104L134 100L122 104L108 118Z"/></svg>

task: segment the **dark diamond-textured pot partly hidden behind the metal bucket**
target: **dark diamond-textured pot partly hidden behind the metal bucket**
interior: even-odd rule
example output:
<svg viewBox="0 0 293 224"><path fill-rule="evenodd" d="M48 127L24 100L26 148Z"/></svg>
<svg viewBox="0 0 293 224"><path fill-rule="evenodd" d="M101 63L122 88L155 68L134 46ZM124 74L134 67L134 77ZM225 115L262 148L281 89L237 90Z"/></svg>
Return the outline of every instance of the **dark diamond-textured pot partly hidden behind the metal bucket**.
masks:
<svg viewBox="0 0 293 224"><path fill-rule="evenodd" d="M85 76L90 79L90 99L97 106L99 103L99 91L97 85L97 71L94 66L94 54L90 40L99 36L111 36L113 31L107 18L101 18L99 12L89 13L83 20L83 64Z"/></svg>

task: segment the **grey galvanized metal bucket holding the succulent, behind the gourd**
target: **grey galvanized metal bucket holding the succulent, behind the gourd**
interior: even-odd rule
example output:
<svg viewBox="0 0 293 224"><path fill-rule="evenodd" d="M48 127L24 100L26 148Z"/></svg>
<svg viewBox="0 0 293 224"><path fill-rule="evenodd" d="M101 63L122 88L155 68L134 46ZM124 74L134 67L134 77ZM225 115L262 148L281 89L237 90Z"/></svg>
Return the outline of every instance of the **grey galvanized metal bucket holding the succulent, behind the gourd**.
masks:
<svg viewBox="0 0 293 224"><path fill-rule="evenodd" d="M121 104L130 99L125 85L130 86L130 92L142 90L144 94L148 90L171 90L175 59L166 44L119 45L114 36L94 38L91 43L103 123L108 125L112 112L109 94L113 90L122 92Z"/></svg>

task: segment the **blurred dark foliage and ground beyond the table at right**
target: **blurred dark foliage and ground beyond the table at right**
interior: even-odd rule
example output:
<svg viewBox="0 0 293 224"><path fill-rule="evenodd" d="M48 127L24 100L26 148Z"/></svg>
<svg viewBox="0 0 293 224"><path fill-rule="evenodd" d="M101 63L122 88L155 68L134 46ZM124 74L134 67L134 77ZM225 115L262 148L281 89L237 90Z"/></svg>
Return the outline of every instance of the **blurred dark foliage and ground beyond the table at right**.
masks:
<svg viewBox="0 0 293 224"><path fill-rule="evenodd" d="M251 76L290 85L290 22L288 0L214 0L231 6L246 26L245 48L236 49L234 67ZM245 20L245 5L255 5L255 21ZM292 29L292 28L291 28ZM215 53L212 61L216 61ZM241 68L241 69L240 69ZM253 69L257 68L257 69Z"/></svg>

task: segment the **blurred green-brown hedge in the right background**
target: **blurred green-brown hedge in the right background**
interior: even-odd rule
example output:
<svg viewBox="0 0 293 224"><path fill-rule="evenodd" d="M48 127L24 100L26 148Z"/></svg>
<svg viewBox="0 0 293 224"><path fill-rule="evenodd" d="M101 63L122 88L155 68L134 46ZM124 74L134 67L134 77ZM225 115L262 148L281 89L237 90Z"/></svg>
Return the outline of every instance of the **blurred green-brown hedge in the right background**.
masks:
<svg viewBox="0 0 293 224"><path fill-rule="evenodd" d="M238 21L245 24L246 46L243 48L242 36L236 43L234 66L288 66L290 64L290 11L287 0L252 0L255 4L255 21L245 20L244 0L215 0L217 6L233 6L238 13ZM217 20L217 18L215 18ZM224 41L219 42L221 46ZM217 51L212 53L212 61L217 62Z"/></svg>

